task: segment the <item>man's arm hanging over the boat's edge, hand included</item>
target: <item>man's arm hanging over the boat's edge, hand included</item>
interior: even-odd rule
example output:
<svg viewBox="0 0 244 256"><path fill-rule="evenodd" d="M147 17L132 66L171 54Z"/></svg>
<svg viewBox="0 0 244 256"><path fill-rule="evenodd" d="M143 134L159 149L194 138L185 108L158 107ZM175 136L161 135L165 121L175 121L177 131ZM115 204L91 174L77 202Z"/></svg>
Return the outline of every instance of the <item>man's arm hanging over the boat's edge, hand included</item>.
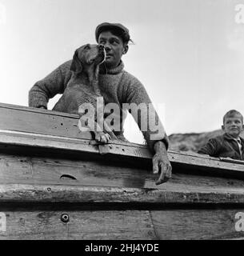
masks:
<svg viewBox="0 0 244 256"><path fill-rule="evenodd" d="M148 94L141 82L137 78L131 76L130 82L127 83L126 97L124 98L126 103L135 103L137 106L144 104L144 108L140 111L140 114L134 116L133 111L131 114L134 116L134 120L138 123L140 130L149 149L153 152L153 172L159 174L159 178L156 185L166 182L171 178L172 167L167 155L167 149L169 147L169 138L166 135L162 122L158 118L156 110L152 105ZM146 128L146 129L145 129Z"/></svg>

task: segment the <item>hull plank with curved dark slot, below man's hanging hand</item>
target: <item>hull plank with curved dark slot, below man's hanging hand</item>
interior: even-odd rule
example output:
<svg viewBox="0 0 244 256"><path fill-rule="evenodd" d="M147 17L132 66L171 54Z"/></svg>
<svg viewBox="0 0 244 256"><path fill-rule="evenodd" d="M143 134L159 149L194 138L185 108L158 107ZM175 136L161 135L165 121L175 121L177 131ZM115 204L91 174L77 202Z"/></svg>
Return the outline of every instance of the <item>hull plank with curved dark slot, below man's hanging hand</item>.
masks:
<svg viewBox="0 0 244 256"><path fill-rule="evenodd" d="M33 158L0 154L0 183L74 184L88 186L155 186L152 171L121 163Z"/></svg>

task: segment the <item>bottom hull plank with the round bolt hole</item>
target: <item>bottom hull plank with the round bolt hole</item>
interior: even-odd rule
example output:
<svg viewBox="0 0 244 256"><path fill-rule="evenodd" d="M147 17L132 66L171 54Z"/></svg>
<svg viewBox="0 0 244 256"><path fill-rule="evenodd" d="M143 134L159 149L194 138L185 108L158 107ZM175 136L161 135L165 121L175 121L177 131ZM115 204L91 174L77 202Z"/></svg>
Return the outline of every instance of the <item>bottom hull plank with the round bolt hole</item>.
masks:
<svg viewBox="0 0 244 256"><path fill-rule="evenodd" d="M1 207L0 207L1 211ZM154 239L147 210L70 211L23 209L6 210L6 232L0 240L42 239ZM62 222L62 214L70 221Z"/></svg>

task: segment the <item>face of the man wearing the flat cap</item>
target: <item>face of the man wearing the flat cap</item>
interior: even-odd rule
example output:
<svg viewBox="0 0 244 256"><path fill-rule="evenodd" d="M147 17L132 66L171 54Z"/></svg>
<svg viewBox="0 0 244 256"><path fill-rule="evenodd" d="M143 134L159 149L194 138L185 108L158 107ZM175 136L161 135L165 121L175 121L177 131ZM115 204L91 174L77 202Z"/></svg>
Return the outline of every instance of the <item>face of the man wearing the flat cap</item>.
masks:
<svg viewBox="0 0 244 256"><path fill-rule="evenodd" d="M126 54L128 46L124 44L122 38L112 34L110 31L104 31L99 34L98 44L105 47L106 50L106 66L114 68L118 66L122 54Z"/></svg>

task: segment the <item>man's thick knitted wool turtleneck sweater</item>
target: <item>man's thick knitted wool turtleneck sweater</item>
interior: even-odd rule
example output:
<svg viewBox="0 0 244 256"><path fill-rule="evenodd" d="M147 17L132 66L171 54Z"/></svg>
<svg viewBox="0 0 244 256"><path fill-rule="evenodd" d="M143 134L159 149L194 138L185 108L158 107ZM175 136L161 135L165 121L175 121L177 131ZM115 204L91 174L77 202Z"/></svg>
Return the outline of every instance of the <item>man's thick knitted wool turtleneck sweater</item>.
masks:
<svg viewBox="0 0 244 256"><path fill-rule="evenodd" d="M53 98L56 94L62 94L66 90L72 75L70 71L71 62L72 60L63 63L47 75L46 78L34 84L29 92L29 106L44 106L47 108L47 102L50 98ZM120 62L119 66L110 70L101 65L98 81L104 103L118 104L121 127L120 131L116 134L118 137L123 137L123 124L127 113L123 108L123 103L135 103L136 106L143 103L144 106L146 104L146 114L145 112L142 113L142 111L142 114L140 114L140 111L137 114L134 114L133 110L129 112L131 112L134 120L138 123L147 145L150 150L153 150L154 143L161 140L166 144L166 148L168 148L169 139L158 118L158 114L151 105L144 86L137 78L124 70L123 62ZM151 128L152 124L154 128ZM157 130L155 130L156 127L158 127Z"/></svg>

